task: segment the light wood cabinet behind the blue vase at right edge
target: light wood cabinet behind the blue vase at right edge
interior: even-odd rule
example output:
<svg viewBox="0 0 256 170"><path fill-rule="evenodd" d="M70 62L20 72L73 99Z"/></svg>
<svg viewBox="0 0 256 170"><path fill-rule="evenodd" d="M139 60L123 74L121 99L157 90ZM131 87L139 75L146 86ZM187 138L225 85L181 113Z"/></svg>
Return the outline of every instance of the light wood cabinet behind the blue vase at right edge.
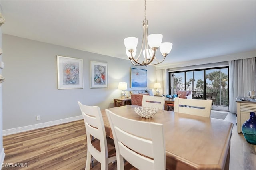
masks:
<svg viewBox="0 0 256 170"><path fill-rule="evenodd" d="M237 132L242 132L242 125L250 118L250 112L256 112L256 100L242 101L242 97L236 98L236 123Z"/></svg>

